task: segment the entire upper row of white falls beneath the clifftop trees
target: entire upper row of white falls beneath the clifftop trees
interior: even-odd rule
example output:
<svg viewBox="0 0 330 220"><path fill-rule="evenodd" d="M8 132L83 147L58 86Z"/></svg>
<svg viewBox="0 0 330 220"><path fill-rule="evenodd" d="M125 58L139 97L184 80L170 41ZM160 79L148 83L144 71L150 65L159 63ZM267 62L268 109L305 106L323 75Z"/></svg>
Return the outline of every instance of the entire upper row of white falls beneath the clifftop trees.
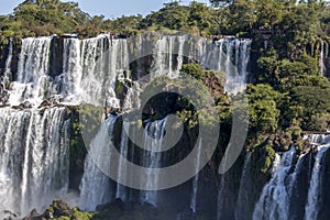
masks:
<svg viewBox="0 0 330 220"><path fill-rule="evenodd" d="M133 61L129 47L132 42L113 40L107 34L87 40L63 38L63 45L52 40L53 37L22 40L18 81L14 81L11 90L10 103L19 105L28 100L38 105L44 99L61 95L67 105L100 105L108 99L108 103L119 107L120 101L114 94L116 80L130 70L130 62ZM143 45L148 40L139 37L136 41L139 42L135 43ZM228 92L237 94L244 89L250 40L222 38L208 42L200 38L195 45L190 45L190 41L193 38L187 35L160 36L151 52L143 52L153 56L154 62L150 66L152 75L178 77L185 58L188 58L190 62L201 62L207 69L226 72ZM51 56L52 44L63 46L62 73L56 73L56 76L50 76L51 58L59 58ZM7 67L6 72L9 73L10 65Z"/></svg>

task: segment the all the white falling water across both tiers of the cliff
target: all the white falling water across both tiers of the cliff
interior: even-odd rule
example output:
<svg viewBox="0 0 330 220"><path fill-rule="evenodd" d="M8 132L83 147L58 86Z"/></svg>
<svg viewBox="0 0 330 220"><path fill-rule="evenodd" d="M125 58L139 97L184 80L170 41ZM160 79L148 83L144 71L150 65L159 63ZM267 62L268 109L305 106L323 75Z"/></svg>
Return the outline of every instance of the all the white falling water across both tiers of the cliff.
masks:
<svg viewBox="0 0 330 220"><path fill-rule="evenodd" d="M51 96L61 95L67 103L102 103L107 98L110 106L119 106L120 100L116 97L116 84L119 78L122 82L131 80L128 78L130 69L130 45L124 38L111 38L110 35L100 35L95 38L78 40L65 38L63 41L63 57L61 64L62 72L55 76L50 75L52 37L25 38L22 41L22 50L19 61L16 81L13 81L10 90L10 105L18 105L24 100L40 105L44 99ZM139 37L139 44L144 44L146 38ZM227 73L226 90L230 94L237 94L244 89L248 78L248 63L250 59L249 40L222 38L209 42L204 38L199 40L195 46L189 47L190 38L188 36L162 36L156 41L151 56L153 63L150 64L152 74L169 77L178 77L179 69L188 61L200 61L207 69L223 70ZM188 51L186 51L188 48ZM323 48L323 46L322 46ZM9 76L12 59L12 44L9 45L9 55L6 62L4 75ZM186 57L185 57L186 56ZM320 59L324 56L321 52ZM58 57L56 57L58 58ZM136 57L138 58L138 57ZM216 62L215 62L216 61ZM320 67L322 67L323 64ZM125 73L127 72L127 73ZM321 72L323 73L324 70ZM139 76L141 73L133 73ZM136 77L135 76L135 77ZM129 84L128 84L129 85ZM136 87L135 87L136 86ZM140 85L128 86L125 100L121 100L125 111L135 108L139 91L135 90ZM103 95L107 95L105 97ZM63 108L44 109L43 112L36 109L16 111L10 108L0 110L0 209L13 210L26 215L31 209L41 209L47 206L53 198L64 197L68 190L68 127L69 121L65 121L65 110ZM105 141L111 128L117 121L117 117L109 116L108 120L101 125L96 138L90 144L89 151L99 155L97 160L101 163L109 163L111 152L107 154L107 142ZM125 123L125 122L124 122ZM145 135L156 136L154 142L146 141L147 148L161 147L162 135L166 119L147 122L145 125ZM129 151L129 138L124 131L120 131L119 152L124 157L140 158L145 167L162 167L163 158L160 153L143 151ZM144 136L145 138L145 136ZM318 204L320 198L320 176L322 175L322 158L328 150L329 136L311 135L309 141L318 153L315 156L315 163L308 179L308 195L305 204L305 219L316 219L318 217ZM314 158L310 153L308 156ZM197 165L200 154L197 155ZM297 164L294 164L294 150L286 152L282 160L276 156L274 163L273 177L264 187L258 202L255 206L254 219L289 219L290 205L295 204L297 196L294 198L294 191L301 188L297 183L298 174L306 168L304 163L307 156L300 156ZM238 190L238 199L230 198L230 194L223 195L230 188L230 176L221 178L219 202L226 207L229 200L235 207L235 218L242 219L244 215L244 202L249 197L244 184L251 177L249 167L251 156L248 154L242 172L241 184ZM119 179L125 178L128 173L123 161L119 162L117 169ZM197 166L198 167L198 166ZM300 177L299 177L300 178ZM140 179L136 179L140 180ZM144 179L145 180L145 179ZM193 190L190 191L187 204L193 212L198 212L201 182L200 176L193 178ZM144 182L141 182L144 183ZM146 175L148 186L153 187L158 184L157 176ZM299 185L300 184L300 185ZM299 185L299 186L298 186ZM190 186L190 185L189 185ZM122 200L133 200L132 194L128 187L113 183L92 163L90 156L85 161L85 174L80 186L80 208L85 210L95 210L100 204L111 201L114 198ZM307 191L307 190L306 190ZM158 205L158 191L139 191L138 199L142 202L148 202L154 206ZM135 198L135 197L134 197ZM226 200L228 199L228 200ZM234 201L233 201L234 200ZM305 202L305 201L304 201ZM227 209L223 209L227 210ZM232 210L231 210L232 211ZM302 211L304 212L304 211ZM226 215L223 215L224 217ZM222 215L219 215L219 219Z"/></svg>

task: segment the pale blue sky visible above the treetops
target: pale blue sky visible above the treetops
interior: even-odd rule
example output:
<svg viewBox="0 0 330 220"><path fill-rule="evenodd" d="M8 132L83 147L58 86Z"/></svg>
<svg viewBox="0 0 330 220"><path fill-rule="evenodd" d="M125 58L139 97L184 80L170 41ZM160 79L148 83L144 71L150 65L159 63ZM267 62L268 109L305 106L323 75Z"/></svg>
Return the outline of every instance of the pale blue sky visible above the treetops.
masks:
<svg viewBox="0 0 330 220"><path fill-rule="evenodd" d="M23 0L1 0L0 14L9 14L13 8ZM79 3L79 7L90 15L103 14L112 19L121 15L142 14L146 15L151 11L157 11L164 2L170 0L73 0ZM183 0L182 3L188 4L190 0ZM208 0L198 0L198 2L208 3Z"/></svg>

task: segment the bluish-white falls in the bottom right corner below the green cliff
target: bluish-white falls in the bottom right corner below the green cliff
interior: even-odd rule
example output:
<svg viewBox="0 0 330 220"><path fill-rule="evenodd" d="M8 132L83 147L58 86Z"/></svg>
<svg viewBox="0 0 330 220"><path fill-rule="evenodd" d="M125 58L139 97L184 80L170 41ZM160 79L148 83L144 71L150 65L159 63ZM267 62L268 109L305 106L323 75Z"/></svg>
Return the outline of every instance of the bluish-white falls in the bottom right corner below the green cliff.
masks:
<svg viewBox="0 0 330 220"><path fill-rule="evenodd" d="M306 220L318 219L322 200L322 158L329 150L330 135L310 134L304 139L315 147L309 153L300 155L296 165L293 164L295 156L293 148L283 155L255 205L253 219L302 219L304 216ZM317 153L312 156L315 151ZM312 169L308 170L312 158L315 160ZM301 205L305 205L305 210L301 210Z"/></svg>

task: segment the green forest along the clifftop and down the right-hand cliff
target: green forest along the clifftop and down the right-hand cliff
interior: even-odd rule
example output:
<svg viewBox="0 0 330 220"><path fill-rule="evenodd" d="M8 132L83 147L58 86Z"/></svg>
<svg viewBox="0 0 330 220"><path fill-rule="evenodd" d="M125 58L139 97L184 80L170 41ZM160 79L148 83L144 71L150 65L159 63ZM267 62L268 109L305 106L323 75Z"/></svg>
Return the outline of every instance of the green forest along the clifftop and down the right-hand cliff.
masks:
<svg viewBox="0 0 330 220"><path fill-rule="evenodd" d="M304 151L302 131L330 128L330 3L327 1L210 0L210 7L197 1L189 6L173 1L145 16L107 19L89 15L76 2L26 0L12 14L0 15L0 48L3 52L10 38L19 46L21 38L30 36L77 33L79 38L87 38L113 33L129 37L150 32L180 32L211 40L221 35L252 40L246 88L246 151L258 152L257 168L262 173L270 172L275 152L287 151L290 144ZM319 64L321 50L328 62L323 72ZM3 56L1 53L0 61ZM213 73L202 69L200 64L184 64L182 72L207 85L220 110L221 128L227 132L223 139L228 139L232 97L223 92L223 85L209 86L210 80L216 80ZM166 80L173 84L169 78ZM157 81L154 84L150 87L160 86ZM188 87L194 89L194 85ZM184 103L182 100L176 106L179 117L194 121L194 108ZM206 119L206 123L208 120L215 119ZM191 124L194 127L194 122ZM78 140L79 135L74 138ZM73 145L77 144L78 141Z"/></svg>

